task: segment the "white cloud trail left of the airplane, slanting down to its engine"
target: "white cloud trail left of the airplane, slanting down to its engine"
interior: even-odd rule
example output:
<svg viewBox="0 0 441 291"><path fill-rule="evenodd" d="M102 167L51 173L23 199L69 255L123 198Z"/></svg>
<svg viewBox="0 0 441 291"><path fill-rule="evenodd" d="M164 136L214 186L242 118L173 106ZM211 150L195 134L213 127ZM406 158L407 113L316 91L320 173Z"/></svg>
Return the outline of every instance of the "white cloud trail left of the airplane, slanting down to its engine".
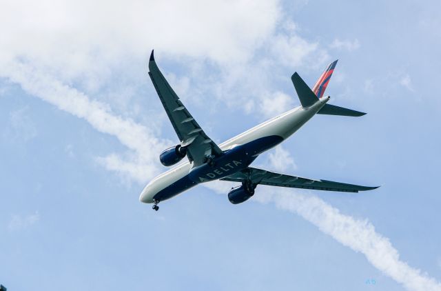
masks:
<svg viewBox="0 0 441 291"><path fill-rule="evenodd" d="M113 135L132 150L125 155L128 161L123 161L117 154L100 158L99 161L108 170L128 174L139 182L145 182L158 173L156 152L161 152L172 144L171 141L156 138L149 128L114 114L106 104L91 100L79 90L63 85L54 77L28 64L10 63L8 78L19 83L29 94L85 119L99 132Z"/></svg>

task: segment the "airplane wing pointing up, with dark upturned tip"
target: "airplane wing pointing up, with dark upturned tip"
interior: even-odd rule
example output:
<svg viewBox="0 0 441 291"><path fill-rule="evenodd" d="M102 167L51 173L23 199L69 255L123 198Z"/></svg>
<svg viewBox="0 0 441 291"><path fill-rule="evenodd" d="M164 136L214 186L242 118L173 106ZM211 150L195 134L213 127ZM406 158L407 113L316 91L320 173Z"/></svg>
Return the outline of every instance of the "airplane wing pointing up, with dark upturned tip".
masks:
<svg viewBox="0 0 441 291"><path fill-rule="evenodd" d="M212 139L207 137L207 134L198 125L192 114L188 112L158 66L156 66L153 50L150 55L149 70L150 79L152 79L165 112L167 112L167 116L172 122L174 131L178 134L181 146L187 148L189 161L194 162L194 165L201 165L205 162L207 155L218 156L222 154L223 151Z"/></svg>

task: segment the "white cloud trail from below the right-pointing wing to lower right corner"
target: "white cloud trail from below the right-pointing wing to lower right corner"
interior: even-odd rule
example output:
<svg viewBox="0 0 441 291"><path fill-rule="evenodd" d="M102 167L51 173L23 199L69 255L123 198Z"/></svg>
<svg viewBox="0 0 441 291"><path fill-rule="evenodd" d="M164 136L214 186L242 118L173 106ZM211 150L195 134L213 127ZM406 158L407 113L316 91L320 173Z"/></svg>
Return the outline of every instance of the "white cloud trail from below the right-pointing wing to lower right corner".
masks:
<svg viewBox="0 0 441 291"><path fill-rule="evenodd" d="M287 155L285 152L283 155ZM283 161L287 161L284 164ZM279 159L269 156L271 165L285 170L293 163L292 159ZM322 232L329 234L336 241L365 257L375 268L412 291L440 291L441 284L418 269L411 268L400 260L400 254L386 237L378 234L367 219L356 219L340 213L340 210L327 204L314 194L298 193L292 189L265 188L265 193L258 193L254 200L260 203L273 202L277 208L296 213L316 225Z"/></svg>

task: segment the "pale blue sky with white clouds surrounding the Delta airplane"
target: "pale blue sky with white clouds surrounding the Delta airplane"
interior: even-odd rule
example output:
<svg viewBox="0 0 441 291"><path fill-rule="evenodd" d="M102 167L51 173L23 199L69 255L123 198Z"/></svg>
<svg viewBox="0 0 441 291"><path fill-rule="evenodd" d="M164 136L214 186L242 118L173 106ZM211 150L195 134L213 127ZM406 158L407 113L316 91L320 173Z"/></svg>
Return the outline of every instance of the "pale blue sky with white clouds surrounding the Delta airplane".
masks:
<svg viewBox="0 0 441 291"><path fill-rule="evenodd" d="M8 290L441 290L439 1L2 1L0 283ZM254 165L378 190L200 185L154 212L178 143L151 50L220 143L329 103Z"/></svg>

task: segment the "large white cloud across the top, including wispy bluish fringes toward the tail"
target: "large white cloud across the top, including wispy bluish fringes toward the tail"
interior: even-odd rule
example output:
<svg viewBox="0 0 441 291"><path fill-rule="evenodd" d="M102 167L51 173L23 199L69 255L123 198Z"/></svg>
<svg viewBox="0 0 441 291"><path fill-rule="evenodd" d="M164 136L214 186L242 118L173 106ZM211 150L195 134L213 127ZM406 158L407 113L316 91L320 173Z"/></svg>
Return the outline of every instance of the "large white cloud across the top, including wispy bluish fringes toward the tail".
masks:
<svg viewBox="0 0 441 291"><path fill-rule="evenodd" d="M277 77L274 72L279 67L315 68L327 59L318 42L300 37L295 23L284 18L278 0L8 0L0 11L0 24L0 77L8 77L9 63L28 63L94 96L114 78L127 74L133 79L127 87L144 83L144 64L155 48L158 59L185 61L186 66L201 60L212 64L218 77L209 84L195 82L192 92L205 98L217 92L215 97L228 106L251 112L249 97L264 99L261 95L267 93L262 92L271 92L271 79ZM276 32L280 27L284 31ZM270 60L256 57L263 50ZM201 79L204 72L190 73L192 79ZM178 79L176 89L187 90L188 80L187 76ZM127 102L117 94L113 98L110 103Z"/></svg>

